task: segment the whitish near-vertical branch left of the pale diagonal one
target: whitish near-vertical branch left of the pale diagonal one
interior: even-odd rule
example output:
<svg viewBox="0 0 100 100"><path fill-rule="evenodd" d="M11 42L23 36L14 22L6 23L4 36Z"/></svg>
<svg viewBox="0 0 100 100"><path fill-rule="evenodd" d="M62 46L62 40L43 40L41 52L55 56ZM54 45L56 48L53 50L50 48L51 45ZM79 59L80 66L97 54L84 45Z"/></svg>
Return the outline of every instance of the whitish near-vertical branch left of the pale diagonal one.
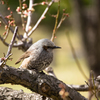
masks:
<svg viewBox="0 0 100 100"><path fill-rule="evenodd" d="M27 18L27 24L26 24L26 29L24 33L24 38L27 38L27 33L29 32L29 26L31 24L31 17L32 17L32 6L33 6L33 0L29 0L29 12L28 12L28 18Z"/></svg>

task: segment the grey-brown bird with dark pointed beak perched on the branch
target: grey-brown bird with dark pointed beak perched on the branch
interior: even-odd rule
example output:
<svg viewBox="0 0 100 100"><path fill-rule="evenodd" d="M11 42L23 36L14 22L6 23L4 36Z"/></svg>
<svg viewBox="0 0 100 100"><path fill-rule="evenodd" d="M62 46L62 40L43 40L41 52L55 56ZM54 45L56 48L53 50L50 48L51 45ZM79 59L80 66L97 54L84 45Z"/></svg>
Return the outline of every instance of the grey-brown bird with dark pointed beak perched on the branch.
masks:
<svg viewBox="0 0 100 100"><path fill-rule="evenodd" d="M49 39L40 39L32 44L15 64L23 60L19 68L35 70L37 72L43 71L52 63L53 50L58 48L61 47L56 46Z"/></svg>

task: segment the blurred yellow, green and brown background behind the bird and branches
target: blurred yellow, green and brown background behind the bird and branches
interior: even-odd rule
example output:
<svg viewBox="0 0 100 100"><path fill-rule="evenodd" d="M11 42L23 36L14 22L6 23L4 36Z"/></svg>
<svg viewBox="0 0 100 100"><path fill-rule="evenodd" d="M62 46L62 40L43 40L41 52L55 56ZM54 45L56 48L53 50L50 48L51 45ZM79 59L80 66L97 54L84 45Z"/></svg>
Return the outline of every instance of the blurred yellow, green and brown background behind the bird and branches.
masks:
<svg viewBox="0 0 100 100"><path fill-rule="evenodd" d="M6 0L2 0L6 1ZM42 2L43 0L35 0L34 2ZM29 0L26 0L28 5ZM2 5L0 2L0 13L3 16L7 16L9 11L8 6L13 11L13 17L15 18L16 25L19 26L19 33L23 34L24 31L21 26L20 15L17 14L16 8L19 6L18 0L8 0L6 4ZM90 70L93 70L95 75L100 73L100 0L61 0L60 2L60 16L63 13L63 9L66 9L66 13L69 17L63 22L58 29L55 38L55 44L61 46L62 49L54 51L54 60L50 65L53 67L54 72L58 79L62 80L66 84L82 85L85 84L85 77L78 69L77 64L73 58L70 48L67 34L70 35L73 47L75 49L79 63L89 78ZM32 15L33 26L46 6L34 7L35 12ZM31 35L33 43L42 38L50 39L52 36L55 18L50 15L57 13L58 3L54 3L46 14L46 18L42 20L36 31ZM1 19L0 19L1 20ZM2 21L2 20L1 20ZM0 35L5 32L5 26L2 24L0 27ZM9 34L7 42L10 43L12 33ZM0 41L0 58L3 57L3 53L6 54L7 47ZM7 64L18 68L20 64L14 63L23 53L17 48L12 49L12 61L7 61ZM23 89L24 92L31 92L28 89L19 85L0 85L13 87L14 89ZM88 96L87 92L81 92L85 97Z"/></svg>

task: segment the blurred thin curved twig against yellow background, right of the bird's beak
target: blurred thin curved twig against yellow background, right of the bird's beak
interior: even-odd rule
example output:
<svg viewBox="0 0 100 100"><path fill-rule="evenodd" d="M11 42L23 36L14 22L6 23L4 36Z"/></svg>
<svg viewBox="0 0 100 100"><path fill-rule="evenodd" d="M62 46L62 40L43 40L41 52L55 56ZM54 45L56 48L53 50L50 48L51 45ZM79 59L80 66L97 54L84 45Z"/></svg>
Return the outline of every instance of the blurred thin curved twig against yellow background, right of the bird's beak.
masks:
<svg viewBox="0 0 100 100"><path fill-rule="evenodd" d="M80 70L80 72L82 73L82 75L88 80L87 76L85 75L84 71L82 70L82 67L81 67L81 65L80 65L80 63L79 63L79 61L78 61L78 59L77 59L77 56L76 56L76 53L75 53L75 49L74 49L74 47L73 47L73 45L72 45L72 42L71 42L69 33L67 33L67 40L68 40L69 45L70 45L70 47L71 47L71 51L72 51L72 54L73 54L73 57L74 57L74 59L75 59L75 62L76 62L76 64L77 64L78 69Z"/></svg>

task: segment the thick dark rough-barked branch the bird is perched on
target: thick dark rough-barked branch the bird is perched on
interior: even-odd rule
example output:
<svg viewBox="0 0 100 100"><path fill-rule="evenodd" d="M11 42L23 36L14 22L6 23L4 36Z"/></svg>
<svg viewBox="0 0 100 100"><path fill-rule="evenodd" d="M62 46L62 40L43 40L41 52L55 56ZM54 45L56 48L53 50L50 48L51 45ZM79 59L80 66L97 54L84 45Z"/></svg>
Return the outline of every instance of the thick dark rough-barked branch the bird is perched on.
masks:
<svg viewBox="0 0 100 100"><path fill-rule="evenodd" d="M44 73L36 73L35 71L16 69L7 65L3 68L0 67L0 84L5 83L20 84L33 92L53 98L54 100L62 100L59 95L62 88L59 85L63 84L65 91L69 93L66 97L68 100L87 100L57 78Z"/></svg>

